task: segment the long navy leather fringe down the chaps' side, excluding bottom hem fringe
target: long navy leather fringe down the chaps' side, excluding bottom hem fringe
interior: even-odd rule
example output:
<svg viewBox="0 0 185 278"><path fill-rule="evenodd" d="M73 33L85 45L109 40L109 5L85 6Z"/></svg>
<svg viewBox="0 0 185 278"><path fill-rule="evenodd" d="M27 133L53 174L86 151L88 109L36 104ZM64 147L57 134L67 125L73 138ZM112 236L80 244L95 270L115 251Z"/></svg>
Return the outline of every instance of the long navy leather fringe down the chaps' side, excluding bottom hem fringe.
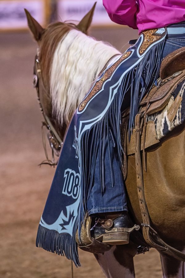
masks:
<svg viewBox="0 0 185 278"><path fill-rule="evenodd" d="M108 141L109 146L109 158L110 168L112 176L112 184L114 184L113 173L113 158L110 155L110 141L114 147L114 154L116 160L119 163L120 171L122 169L122 153L121 146L121 107L124 101L125 94L131 92L131 105L130 105L130 120L129 120L129 132L131 133L134 128L134 119L138 113L139 103L145 93L150 91L154 81L158 78L162 48L164 41L153 46L153 48L146 53L144 58L138 63L138 65L128 72L123 78L119 91L115 95L109 110L106 112L101 121L93 125L93 127L83 134L80 140L79 153L81 159L79 159L79 167L81 169L81 202L80 209L81 214L78 219L79 227L84 219L85 212L87 211L86 203L91 192L93 185L93 177L96 166L96 161L99 159L100 165L100 186L102 193L105 190L105 171L104 171L104 150L105 141ZM146 71L145 79L144 71ZM140 80L145 80L140 86ZM126 103L128 105L128 103ZM124 105L124 103L123 103ZM126 107L125 107L126 108ZM98 149L100 150L99 158L97 158ZM79 229L80 230L80 229ZM79 234L80 237L80 234Z"/></svg>

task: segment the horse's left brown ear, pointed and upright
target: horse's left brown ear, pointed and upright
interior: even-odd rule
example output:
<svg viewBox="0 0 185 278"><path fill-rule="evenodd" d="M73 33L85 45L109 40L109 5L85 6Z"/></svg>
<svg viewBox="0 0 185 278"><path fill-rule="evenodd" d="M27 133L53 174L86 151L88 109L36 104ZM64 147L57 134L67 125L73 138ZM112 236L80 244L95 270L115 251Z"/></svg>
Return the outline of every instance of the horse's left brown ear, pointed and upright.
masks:
<svg viewBox="0 0 185 278"><path fill-rule="evenodd" d="M28 27L30 28L30 31L32 32L35 40L38 42L41 39L41 36L43 34L43 27L40 26L40 24L31 16L29 11L27 9L24 9L26 17L27 17L27 22L28 22Z"/></svg>

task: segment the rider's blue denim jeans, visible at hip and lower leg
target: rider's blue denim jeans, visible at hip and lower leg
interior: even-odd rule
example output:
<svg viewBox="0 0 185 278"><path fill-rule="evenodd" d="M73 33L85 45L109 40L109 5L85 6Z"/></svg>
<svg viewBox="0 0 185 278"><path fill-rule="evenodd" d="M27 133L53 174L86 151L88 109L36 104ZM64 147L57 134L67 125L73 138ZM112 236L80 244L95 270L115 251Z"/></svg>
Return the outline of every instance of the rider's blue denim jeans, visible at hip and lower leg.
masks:
<svg viewBox="0 0 185 278"><path fill-rule="evenodd" d="M185 36L167 38L164 43L162 58L178 48L185 46ZM110 140L111 144L113 142ZM113 149L113 148L112 148ZM99 155L99 153L98 153ZM111 155L111 154L110 154ZM113 156L114 157L114 156ZM125 185L120 166L116 159L113 161L113 173L111 176L111 166L109 159L108 143L105 144L105 190L101 192L99 162L97 159L94 184L87 200L88 214L128 211ZM112 182L113 180L113 182Z"/></svg>

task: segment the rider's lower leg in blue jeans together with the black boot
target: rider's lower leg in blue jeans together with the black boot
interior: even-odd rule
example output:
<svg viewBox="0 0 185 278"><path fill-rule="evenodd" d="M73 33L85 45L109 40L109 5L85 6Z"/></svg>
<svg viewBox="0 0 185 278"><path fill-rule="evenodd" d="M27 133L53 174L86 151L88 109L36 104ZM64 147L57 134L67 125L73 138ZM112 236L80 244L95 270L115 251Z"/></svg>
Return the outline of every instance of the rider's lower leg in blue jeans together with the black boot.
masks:
<svg viewBox="0 0 185 278"><path fill-rule="evenodd" d="M121 166L116 150L114 150L113 147L113 139L109 139L110 140L108 141L106 138L104 146L105 188L102 189L100 186L102 172L100 169L99 159L100 148L98 147L93 186L87 200L87 209L88 215L95 218L97 217L98 221L98 225L92 231L92 236L98 240L103 239L104 242L106 240L106 242L109 242L109 244L126 244L128 243L128 234L124 234L123 232L117 234L114 233L114 238L111 238L109 234L106 234L106 236L104 235L103 238L105 229L101 226L102 220L104 224L106 219L111 219L114 222L114 227L130 227L129 218L127 215L128 208ZM112 161L112 164L110 164L110 161ZM112 221L109 221L109 223L111 222Z"/></svg>

